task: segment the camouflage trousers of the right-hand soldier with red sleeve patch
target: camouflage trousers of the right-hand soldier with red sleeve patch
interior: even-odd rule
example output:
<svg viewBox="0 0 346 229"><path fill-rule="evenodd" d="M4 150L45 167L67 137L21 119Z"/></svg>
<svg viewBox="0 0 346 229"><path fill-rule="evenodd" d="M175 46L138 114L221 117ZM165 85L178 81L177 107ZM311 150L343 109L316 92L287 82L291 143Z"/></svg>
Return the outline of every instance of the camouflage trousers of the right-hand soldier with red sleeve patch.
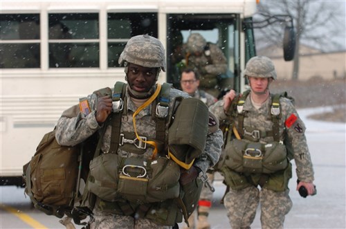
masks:
<svg viewBox="0 0 346 229"><path fill-rule="evenodd" d="M242 190L230 189L226 194L224 205L230 226L233 229L251 228L259 204L262 229L284 227L284 217L292 208L289 190L274 192L268 189L259 190L255 186Z"/></svg>

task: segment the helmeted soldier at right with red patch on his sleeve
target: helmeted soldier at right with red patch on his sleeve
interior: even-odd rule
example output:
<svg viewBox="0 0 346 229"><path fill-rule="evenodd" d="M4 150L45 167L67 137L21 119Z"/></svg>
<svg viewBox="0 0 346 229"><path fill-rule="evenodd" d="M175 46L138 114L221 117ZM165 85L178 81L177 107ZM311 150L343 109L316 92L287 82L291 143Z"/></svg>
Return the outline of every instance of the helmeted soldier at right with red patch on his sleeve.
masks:
<svg viewBox="0 0 346 229"><path fill-rule="evenodd" d="M305 126L289 98L270 93L269 85L276 79L271 59L251 58L244 77L250 91L237 96L230 91L210 107L233 131L224 133L228 139L221 172L229 188L224 205L232 228L251 228L259 204L262 228L283 228L292 207L291 159L297 166L297 190L304 187L307 194L316 193Z"/></svg>

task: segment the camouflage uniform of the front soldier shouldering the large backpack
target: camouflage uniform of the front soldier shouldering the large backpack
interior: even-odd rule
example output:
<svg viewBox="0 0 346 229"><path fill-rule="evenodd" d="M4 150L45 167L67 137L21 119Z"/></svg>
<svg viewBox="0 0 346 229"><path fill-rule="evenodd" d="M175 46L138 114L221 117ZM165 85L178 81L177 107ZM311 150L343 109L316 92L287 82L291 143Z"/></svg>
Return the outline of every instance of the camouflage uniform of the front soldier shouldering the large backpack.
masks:
<svg viewBox="0 0 346 229"><path fill-rule="evenodd" d="M129 42L128 42L129 44ZM135 48L137 48L136 46ZM126 48L125 48L126 49ZM163 53L163 52L162 52ZM135 61L135 60L134 60ZM143 61L143 59L141 59ZM145 63L143 63L145 66ZM163 68L164 70L164 68ZM126 71L126 67L125 67ZM113 89L112 89L113 92ZM189 95L182 91L176 89L170 89L170 104L169 110L172 111L174 98L181 96L183 98L188 98ZM79 112L78 115L74 118L69 118L66 116L62 116L60 120L57 122L57 130L56 130L56 138L57 142L60 145L77 145L78 143L82 143L86 138L93 135L96 131L101 131L102 127L107 128L102 140L101 150L104 154L112 153L109 152L111 145L111 125L107 127L104 125L98 125L98 122L95 118L96 108L97 108L97 100L98 95L95 93L88 95L87 100L89 102L89 107L91 112L89 114L85 114ZM131 100L129 95L129 86L127 85L127 90L125 93L124 99L127 110L122 113L122 121L120 127L120 133L134 133L134 120L133 114L137 110L135 103ZM149 104L142 111L138 113L136 116L136 130L139 136L145 136L148 139L154 139L156 137L156 122L152 119L152 111L153 104ZM168 125L169 123L165 123L165 135L167 138L168 135ZM198 167L201 172L206 173L208 168L219 160L219 156L221 154L221 145L223 144L222 133L221 130L215 125L210 127L208 131L208 136L206 140L206 147L204 152L194 161L194 167ZM129 151L129 145L132 144L124 144L123 146L118 147L116 153L123 158L143 158L143 160L147 158L152 158L152 154L154 149L152 147L146 147L143 149L143 154L138 154ZM165 143L167 145L167 143ZM159 152L160 153L160 152ZM167 202L168 201L168 202ZM170 201L170 202L169 202ZM152 203L149 207L154 209L153 211L160 211L161 205L163 203L172 203L172 205L176 204L172 202L172 199L168 199L166 201L160 203ZM118 201L115 201L118 203ZM120 202L119 202L120 204ZM140 202L138 203L130 203L131 208L133 208L136 212L140 207ZM110 205L110 208L107 208L107 205ZM172 207L171 205L171 207ZM112 203L103 201L100 198L96 199L95 208L93 210L94 213L94 221L91 223L91 228L170 228L171 226L162 225L162 223L157 223L152 219L147 219L147 215L141 214L131 214L131 216L125 216L122 214L118 214L116 211L115 205ZM121 209L120 209L121 210ZM143 213L143 212L142 212ZM179 223L179 222L176 222Z"/></svg>

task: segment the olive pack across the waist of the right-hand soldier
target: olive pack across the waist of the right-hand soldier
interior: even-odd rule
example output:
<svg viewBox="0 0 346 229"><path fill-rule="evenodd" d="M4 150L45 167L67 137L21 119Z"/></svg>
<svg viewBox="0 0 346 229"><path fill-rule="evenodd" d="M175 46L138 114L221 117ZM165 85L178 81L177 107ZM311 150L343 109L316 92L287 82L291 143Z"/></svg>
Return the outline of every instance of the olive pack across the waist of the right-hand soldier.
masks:
<svg viewBox="0 0 346 229"><path fill-rule="evenodd" d="M281 143L248 143L234 139L226 145L225 165L235 172L271 174L287 167L286 147Z"/></svg>

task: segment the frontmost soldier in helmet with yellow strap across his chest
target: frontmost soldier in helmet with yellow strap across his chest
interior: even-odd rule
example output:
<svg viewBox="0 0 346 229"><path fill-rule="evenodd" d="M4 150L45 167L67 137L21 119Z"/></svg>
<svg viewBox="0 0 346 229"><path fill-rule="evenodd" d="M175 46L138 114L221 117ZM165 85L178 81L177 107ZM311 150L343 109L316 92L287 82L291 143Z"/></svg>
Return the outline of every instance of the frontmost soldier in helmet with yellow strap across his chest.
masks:
<svg viewBox="0 0 346 229"><path fill-rule="evenodd" d="M127 84L117 82L108 88L109 95L98 90L80 99L78 116L63 114L58 120L57 142L76 145L96 131L105 131L101 154L91 161L86 183L96 196L90 228L176 228L182 212L191 214L183 205L189 209L193 204L186 201L198 200L200 189L192 188L201 187L206 171L219 159L222 132L199 100L171 89L170 84L156 84L160 71L165 71L165 50L158 39L132 37L119 64L125 66ZM189 107L198 112L181 111ZM193 113L206 118L195 117L188 122L191 125L180 123L185 121L181 116ZM198 129L196 122L203 128ZM190 137L193 145L181 142Z"/></svg>

